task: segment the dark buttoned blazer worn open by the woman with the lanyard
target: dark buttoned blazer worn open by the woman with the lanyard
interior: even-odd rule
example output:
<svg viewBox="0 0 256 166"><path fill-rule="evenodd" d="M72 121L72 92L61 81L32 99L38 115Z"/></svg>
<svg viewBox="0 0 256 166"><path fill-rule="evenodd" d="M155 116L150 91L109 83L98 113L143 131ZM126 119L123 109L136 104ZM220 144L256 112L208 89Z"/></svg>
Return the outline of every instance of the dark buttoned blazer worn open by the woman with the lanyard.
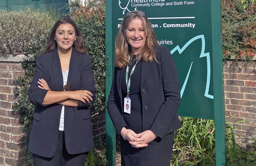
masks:
<svg viewBox="0 0 256 166"><path fill-rule="evenodd" d="M178 72L169 49L155 45L156 59L142 61L140 91L143 131L151 130L161 139L181 127L177 114L180 106ZM127 126L123 119L121 78L126 70L115 67L107 109L118 134ZM132 101L131 101L132 102Z"/></svg>

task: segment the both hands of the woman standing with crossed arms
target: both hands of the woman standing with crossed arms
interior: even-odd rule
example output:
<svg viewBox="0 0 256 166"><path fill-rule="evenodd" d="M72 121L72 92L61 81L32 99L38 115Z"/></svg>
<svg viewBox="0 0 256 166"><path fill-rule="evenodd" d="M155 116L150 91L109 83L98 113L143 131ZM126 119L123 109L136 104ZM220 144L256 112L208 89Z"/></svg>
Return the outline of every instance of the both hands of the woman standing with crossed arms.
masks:
<svg viewBox="0 0 256 166"><path fill-rule="evenodd" d="M40 84L40 85L38 85L39 88L51 91L47 82L43 78L39 79L39 81L37 81L37 83ZM90 101L93 100L93 98L92 98L93 94L88 90L76 90L76 91L66 91L66 92L71 93L71 97L70 97L71 99L80 100L85 104L86 104L86 101L88 103L90 103Z"/></svg>

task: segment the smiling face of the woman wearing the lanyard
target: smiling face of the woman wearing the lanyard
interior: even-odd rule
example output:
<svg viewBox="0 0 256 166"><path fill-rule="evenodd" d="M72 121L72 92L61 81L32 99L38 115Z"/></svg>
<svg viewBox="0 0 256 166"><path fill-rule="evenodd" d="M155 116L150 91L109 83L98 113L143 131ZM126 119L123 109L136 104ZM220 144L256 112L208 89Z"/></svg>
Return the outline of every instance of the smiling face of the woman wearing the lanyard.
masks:
<svg viewBox="0 0 256 166"><path fill-rule="evenodd" d="M130 21L126 29L126 39L131 46L132 53L139 54L146 41L141 19L134 18Z"/></svg>

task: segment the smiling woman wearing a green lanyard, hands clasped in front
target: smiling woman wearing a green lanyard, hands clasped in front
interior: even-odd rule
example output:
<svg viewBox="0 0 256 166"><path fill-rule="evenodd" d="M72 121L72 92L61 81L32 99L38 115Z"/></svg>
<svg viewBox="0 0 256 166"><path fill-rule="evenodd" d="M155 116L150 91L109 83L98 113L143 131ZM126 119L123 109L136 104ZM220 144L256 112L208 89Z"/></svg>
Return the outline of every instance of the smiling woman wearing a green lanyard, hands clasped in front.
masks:
<svg viewBox="0 0 256 166"><path fill-rule="evenodd" d="M126 13L115 42L107 109L121 136L122 166L169 166L180 85L170 51L158 45L146 13Z"/></svg>

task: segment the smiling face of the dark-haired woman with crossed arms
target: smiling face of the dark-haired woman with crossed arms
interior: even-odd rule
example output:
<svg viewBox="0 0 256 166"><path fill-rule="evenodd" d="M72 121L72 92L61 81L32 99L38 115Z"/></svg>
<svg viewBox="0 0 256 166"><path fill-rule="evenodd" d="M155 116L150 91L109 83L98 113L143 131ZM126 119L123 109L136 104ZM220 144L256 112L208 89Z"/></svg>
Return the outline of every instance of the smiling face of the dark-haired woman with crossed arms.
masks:
<svg viewBox="0 0 256 166"><path fill-rule="evenodd" d="M60 24L57 28L54 40L58 45L58 50L70 50L76 40L76 33L71 24Z"/></svg>

